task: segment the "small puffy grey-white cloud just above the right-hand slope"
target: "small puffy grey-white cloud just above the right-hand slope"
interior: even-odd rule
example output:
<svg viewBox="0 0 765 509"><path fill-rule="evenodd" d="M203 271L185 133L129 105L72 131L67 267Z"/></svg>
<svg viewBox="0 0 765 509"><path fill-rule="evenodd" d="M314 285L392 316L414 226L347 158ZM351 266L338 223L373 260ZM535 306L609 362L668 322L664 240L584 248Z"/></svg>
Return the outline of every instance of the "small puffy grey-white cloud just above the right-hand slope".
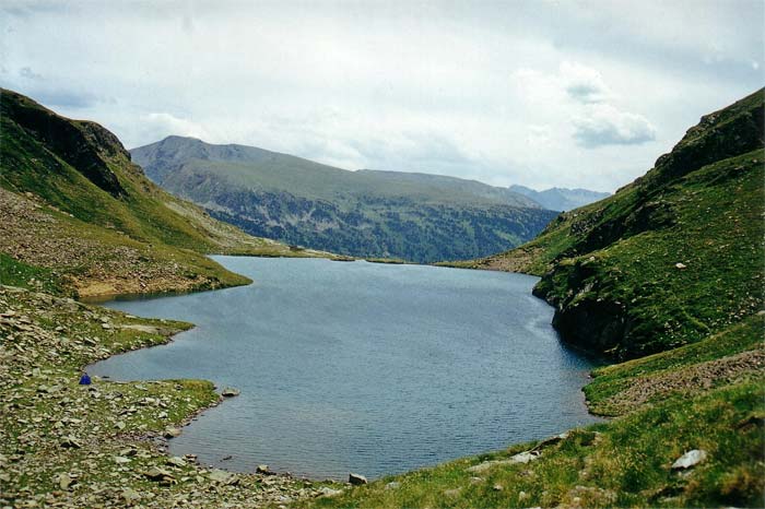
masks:
<svg viewBox="0 0 765 509"><path fill-rule="evenodd" d="M640 115L611 105L590 105L573 120L574 138L581 146L633 145L656 139L656 128Z"/></svg>

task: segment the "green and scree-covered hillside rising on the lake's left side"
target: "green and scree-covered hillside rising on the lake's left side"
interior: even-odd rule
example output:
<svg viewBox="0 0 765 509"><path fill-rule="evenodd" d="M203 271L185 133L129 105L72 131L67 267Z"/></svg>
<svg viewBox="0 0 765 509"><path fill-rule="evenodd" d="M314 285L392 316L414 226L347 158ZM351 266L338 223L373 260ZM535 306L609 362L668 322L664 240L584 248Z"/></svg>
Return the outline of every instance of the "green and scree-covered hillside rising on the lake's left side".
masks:
<svg viewBox="0 0 765 509"><path fill-rule="evenodd" d="M0 251L60 269L64 285L83 295L243 284L248 280L204 254L291 253L162 191L101 126L7 90L0 91ZM108 270L98 267L104 260L114 261ZM0 276L12 281L10 273Z"/></svg>

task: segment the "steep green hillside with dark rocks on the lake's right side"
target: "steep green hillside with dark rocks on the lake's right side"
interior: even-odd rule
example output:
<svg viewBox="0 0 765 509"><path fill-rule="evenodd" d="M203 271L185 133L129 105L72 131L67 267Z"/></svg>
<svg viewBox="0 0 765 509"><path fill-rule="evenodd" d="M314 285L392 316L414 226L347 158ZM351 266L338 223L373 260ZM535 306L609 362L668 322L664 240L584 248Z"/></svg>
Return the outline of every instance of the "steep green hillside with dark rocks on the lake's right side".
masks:
<svg viewBox="0 0 765 509"><path fill-rule="evenodd" d="M542 276L562 338L625 359L763 306L764 93L707 115L644 177L474 267Z"/></svg>

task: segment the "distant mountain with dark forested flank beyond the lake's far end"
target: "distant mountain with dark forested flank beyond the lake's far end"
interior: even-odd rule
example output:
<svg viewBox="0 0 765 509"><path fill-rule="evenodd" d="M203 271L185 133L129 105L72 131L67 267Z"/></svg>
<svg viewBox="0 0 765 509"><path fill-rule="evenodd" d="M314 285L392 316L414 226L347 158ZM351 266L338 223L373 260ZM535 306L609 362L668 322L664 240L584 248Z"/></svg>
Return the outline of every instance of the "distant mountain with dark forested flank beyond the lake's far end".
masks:
<svg viewBox="0 0 765 509"><path fill-rule="evenodd" d="M169 137L131 154L165 189L250 234L351 256L472 258L531 239L555 215L473 180L346 171L252 146Z"/></svg>

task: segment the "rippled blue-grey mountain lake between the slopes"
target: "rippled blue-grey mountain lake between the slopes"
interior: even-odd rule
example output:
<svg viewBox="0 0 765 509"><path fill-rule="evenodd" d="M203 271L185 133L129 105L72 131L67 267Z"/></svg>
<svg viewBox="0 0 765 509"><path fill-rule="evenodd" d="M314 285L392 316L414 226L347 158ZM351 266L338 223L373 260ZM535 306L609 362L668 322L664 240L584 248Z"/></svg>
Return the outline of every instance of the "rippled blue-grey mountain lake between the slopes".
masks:
<svg viewBox="0 0 765 509"><path fill-rule="evenodd" d="M242 390L170 440L173 454L238 471L378 477L595 421L580 390L592 365L560 343L553 309L531 295L536 277L215 259L255 284L106 304L197 327L98 363L94 375Z"/></svg>

